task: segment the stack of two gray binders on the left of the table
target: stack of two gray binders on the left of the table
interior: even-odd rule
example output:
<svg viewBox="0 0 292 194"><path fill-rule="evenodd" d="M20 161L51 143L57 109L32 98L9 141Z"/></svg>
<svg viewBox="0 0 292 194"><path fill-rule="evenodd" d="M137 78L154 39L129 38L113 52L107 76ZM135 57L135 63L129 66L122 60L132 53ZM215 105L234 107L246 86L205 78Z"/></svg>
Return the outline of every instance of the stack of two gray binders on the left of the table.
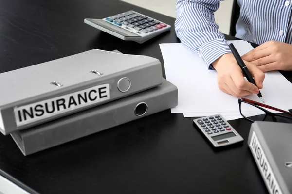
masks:
<svg viewBox="0 0 292 194"><path fill-rule="evenodd" d="M93 49L0 74L0 131L24 155L177 106L158 59Z"/></svg>

